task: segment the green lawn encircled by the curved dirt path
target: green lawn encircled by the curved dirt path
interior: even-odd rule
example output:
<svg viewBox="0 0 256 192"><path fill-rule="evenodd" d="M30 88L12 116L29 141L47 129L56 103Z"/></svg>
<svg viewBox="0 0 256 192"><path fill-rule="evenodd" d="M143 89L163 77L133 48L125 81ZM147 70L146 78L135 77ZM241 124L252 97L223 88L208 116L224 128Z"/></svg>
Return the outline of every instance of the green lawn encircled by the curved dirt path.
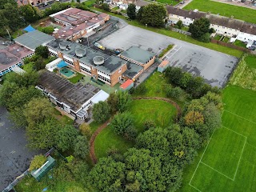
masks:
<svg viewBox="0 0 256 192"><path fill-rule="evenodd" d="M174 106L163 101L134 100L130 105L130 112L134 114L134 124L138 132L143 131L143 122L154 121L158 126L166 127L173 121L177 111ZM111 147L117 148L122 154L132 146L134 142L127 141L122 135L114 133L107 126L95 139L95 154L97 158L106 157L106 150Z"/></svg>

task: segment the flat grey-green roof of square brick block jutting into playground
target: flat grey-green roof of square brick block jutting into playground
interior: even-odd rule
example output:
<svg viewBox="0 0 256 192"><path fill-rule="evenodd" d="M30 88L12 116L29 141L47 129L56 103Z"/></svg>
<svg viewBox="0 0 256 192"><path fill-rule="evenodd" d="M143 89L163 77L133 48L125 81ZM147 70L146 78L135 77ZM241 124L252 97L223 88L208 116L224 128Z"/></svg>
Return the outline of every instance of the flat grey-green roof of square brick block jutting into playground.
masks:
<svg viewBox="0 0 256 192"><path fill-rule="evenodd" d="M137 46L131 46L128 50L122 52L121 55L141 63L146 63L150 58L154 57L154 54L150 51L142 50Z"/></svg>

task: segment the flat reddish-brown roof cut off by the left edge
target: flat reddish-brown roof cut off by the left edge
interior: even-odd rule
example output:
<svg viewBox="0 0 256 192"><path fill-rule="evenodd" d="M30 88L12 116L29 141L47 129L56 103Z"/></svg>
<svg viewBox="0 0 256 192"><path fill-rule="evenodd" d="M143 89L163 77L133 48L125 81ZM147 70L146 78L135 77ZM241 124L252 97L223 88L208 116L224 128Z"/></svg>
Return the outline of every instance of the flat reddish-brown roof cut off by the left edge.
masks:
<svg viewBox="0 0 256 192"><path fill-rule="evenodd" d="M18 62L22 62L22 59L11 54L6 49L0 50L0 70L6 70Z"/></svg>

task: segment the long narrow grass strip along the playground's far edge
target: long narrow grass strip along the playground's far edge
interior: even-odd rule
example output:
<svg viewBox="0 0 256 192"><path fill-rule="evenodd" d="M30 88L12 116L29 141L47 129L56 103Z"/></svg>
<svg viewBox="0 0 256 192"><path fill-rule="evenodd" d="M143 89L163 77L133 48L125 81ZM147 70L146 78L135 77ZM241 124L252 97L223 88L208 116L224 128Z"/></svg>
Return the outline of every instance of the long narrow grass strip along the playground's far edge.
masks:
<svg viewBox="0 0 256 192"><path fill-rule="evenodd" d="M98 9L98 8L92 8L92 9L98 10L98 11L101 11L101 12L105 12L107 14L110 14L110 15L113 15L115 17L122 18L122 19L126 20L126 17L124 17L122 15L106 12L106 11ZM233 55L234 57L237 57L237 58L240 58L243 54L243 52L241 50L235 50L235 49L232 49L230 47L214 44L212 42L208 42L208 43L207 42L198 42L194 38L191 38L190 36L187 36L185 34L179 34L178 32L174 32L174 31L171 31L171 30L166 30L164 28L154 28L154 27L151 27L151 26L145 26L145 25L143 25L142 23L140 23L136 20L134 20L134 21L127 21L126 20L126 22L128 22L128 24L130 24L131 26L138 26L138 27L140 27L142 29L145 29L145 30L151 30L155 33L164 34L164 35L169 36L171 38L177 38L177 39L180 39L184 42L190 42L190 43L193 43L193 44L198 45L198 46L204 46L206 48L209 48L210 50L217 50L217 51L222 52L224 54Z"/></svg>

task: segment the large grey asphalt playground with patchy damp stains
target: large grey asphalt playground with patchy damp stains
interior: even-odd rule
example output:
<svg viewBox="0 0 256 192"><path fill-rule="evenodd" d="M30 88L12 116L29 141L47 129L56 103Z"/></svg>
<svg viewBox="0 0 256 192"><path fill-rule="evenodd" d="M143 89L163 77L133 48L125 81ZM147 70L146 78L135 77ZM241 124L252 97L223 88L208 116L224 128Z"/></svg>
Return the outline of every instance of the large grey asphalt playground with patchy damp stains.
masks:
<svg viewBox="0 0 256 192"><path fill-rule="evenodd" d="M102 38L99 43L109 49L127 50L130 46L138 46L154 54L160 54L173 44L174 49L164 58L170 62L170 66L178 66L194 76L201 76L206 83L218 87L226 85L238 62L238 58L228 54L130 25Z"/></svg>

